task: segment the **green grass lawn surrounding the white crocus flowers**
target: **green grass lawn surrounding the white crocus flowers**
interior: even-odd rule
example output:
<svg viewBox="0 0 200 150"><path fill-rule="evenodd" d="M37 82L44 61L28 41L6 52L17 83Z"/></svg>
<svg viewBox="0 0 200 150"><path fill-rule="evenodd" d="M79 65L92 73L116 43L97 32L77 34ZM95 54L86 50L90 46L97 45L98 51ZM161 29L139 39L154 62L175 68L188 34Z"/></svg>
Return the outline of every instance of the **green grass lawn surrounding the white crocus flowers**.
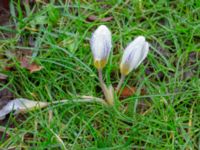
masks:
<svg viewBox="0 0 200 150"><path fill-rule="evenodd" d="M136 36L145 36L151 50L126 78L124 86L137 89L132 96L122 101L116 97L113 107L59 104L31 111L23 121L11 115L6 124L10 137L0 139L0 149L200 148L199 1L58 0L26 9L11 1L10 6L11 23L0 27L0 34L12 37L1 38L0 53L31 50L32 60L44 67L30 74L16 58L1 60L2 66L8 59L15 65L14 71L1 72L9 76L16 97L48 102L80 95L102 97L89 46L91 33L101 24L113 35L112 56L103 70L107 84L119 81L123 49ZM90 15L113 20L87 22ZM31 37L33 46L28 44Z"/></svg>

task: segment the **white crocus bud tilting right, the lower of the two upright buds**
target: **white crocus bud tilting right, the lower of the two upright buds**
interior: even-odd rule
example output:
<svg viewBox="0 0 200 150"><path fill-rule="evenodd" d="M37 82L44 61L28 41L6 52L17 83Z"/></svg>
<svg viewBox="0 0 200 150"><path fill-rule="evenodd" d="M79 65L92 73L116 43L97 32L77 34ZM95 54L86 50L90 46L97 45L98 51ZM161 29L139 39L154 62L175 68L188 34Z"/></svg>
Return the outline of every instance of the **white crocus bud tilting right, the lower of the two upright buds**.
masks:
<svg viewBox="0 0 200 150"><path fill-rule="evenodd" d="M149 43L143 36L135 38L124 50L120 64L121 74L126 76L133 69L136 69L146 58L149 51Z"/></svg>

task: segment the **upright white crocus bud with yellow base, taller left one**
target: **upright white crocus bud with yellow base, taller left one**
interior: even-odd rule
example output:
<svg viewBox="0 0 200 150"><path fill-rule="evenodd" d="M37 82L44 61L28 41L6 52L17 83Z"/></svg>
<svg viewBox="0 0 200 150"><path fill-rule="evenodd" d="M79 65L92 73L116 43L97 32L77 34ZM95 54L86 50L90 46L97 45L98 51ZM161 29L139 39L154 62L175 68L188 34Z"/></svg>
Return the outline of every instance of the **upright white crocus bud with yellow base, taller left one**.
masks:
<svg viewBox="0 0 200 150"><path fill-rule="evenodd" d="M105 25L99 26L94 31L90 46L94 56L94 66L97 69L102 69L107 63L112 47L111 32Z"/></svg>

